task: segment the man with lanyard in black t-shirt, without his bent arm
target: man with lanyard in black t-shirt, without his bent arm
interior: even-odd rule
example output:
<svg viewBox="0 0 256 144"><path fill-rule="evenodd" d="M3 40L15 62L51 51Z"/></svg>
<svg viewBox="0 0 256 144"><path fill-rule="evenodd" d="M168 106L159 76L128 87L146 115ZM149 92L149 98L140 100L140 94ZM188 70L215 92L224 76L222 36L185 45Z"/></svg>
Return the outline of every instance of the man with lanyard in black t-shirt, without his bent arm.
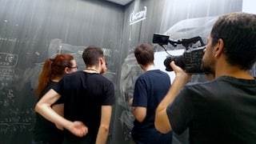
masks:
<svg viewBox="0 0 256 144"><path fill-rule="evenodd" d="M86 69L63 77L56 92L62 95L64 117L70 121L83 122L88 127L88 134L79 138L66 130L66 143L95 143L97 137L98 140L106 141L114 105L114 84L102 76L106 72L102 50L89 46L82 57ZM104 137L99 136L102 130Z"/></svg>

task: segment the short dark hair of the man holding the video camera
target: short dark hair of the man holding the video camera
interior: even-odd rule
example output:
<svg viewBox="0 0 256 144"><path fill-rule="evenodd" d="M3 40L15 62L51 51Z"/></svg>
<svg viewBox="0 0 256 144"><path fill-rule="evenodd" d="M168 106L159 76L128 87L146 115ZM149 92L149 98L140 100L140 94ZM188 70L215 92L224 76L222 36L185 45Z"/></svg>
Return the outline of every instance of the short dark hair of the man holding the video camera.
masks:
<svg viewBox="0 0 256 144"><path fill-rule="evenodd" d="M250 70L256 61L256 15L243 12L224 14L211 33L213 46L222 38L226 61L242 70Z"/></svg>

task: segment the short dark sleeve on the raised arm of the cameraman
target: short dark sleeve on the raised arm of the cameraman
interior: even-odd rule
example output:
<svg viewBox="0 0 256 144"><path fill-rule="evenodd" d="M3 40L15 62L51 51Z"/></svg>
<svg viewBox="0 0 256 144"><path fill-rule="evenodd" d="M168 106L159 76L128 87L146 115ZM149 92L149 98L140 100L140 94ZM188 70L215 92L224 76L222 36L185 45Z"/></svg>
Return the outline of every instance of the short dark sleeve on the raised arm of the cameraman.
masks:
<svg viewBox="0 0 256 144"><path fill-rule="evenodd" d="M176 134L182 134L194 117L194 107L191 102L193 95L191 94L185 86L166 109L170 125Z"/></svg>

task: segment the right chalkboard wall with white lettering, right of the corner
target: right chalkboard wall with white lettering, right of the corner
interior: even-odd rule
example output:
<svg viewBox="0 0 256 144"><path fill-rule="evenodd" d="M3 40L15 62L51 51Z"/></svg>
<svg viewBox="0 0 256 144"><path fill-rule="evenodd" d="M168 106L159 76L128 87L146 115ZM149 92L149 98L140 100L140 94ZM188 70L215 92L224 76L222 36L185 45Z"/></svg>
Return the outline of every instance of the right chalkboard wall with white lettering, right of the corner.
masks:
<svg viewBox="0 0 256 144"><path fill-rule="evenodd" d="M146 7L146 8L145 8ZM146 10L146 18L142 21L130 24L130 18L134 14L143 14ZM153 34L167 34L171 39L193 38L202 36L206 42L214 20L220 14L234 11L242 11L242 0L137 0L126 6L123 23L120 71L120 94L117 95L117 108L114 118L114 142L131 142L130 130L133 126L128 99L133 96L134 83L142 70L134 58L133 49L142 42L152 42ZM155 46L155 51L164 51L161 46ZM167 46L168 50L183 49ZM159 62L161 63L161 62ZM194 75L193 82L204 82L204 75ZM173 138L173 144L188 143L187 131Z"/></svg>

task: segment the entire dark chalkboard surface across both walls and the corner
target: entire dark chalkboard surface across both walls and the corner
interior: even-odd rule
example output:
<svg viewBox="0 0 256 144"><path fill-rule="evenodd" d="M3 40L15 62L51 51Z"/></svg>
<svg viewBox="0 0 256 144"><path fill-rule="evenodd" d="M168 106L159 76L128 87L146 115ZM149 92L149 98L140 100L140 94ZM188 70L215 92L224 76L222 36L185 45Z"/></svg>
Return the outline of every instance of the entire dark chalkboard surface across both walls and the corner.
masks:
<svg viewBox="0 0 256 144"><path fill-rule="evenodd" d="M170 38L191 37L194 33L173 32L185 32L182 26L191 19L194 22L193 18L211 19L242 10L242 0L182 1L134 0L120 6L104 0L0 0L0 144L31 142L34 88L45 59L70 53L82 70L81 54L89 45L103 48L108 62L105 76L116 89L108 143L130 143L133 116L126 100L142 73L134 59L134 46L151 43L156 32ZM131 18L143 12L145 18L131 24ZM209 30L211 24L202 24L206 30L201 31ZM186 136L173 143L179 142L186 143Z"/></svg>

